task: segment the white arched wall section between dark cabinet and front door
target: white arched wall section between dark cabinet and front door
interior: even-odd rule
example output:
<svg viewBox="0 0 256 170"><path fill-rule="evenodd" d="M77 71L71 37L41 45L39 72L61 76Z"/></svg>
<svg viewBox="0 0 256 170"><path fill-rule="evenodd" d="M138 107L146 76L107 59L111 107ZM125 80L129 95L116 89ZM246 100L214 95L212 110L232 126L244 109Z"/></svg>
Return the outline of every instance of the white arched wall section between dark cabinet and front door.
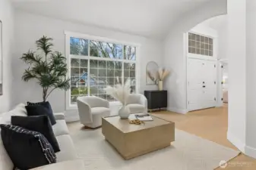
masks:
<svg viewBox="0 0 256 170"><path fill-rule="evenodd" d="M207 2L199 8L185 13L173 25L166 36L164 43L164 63L166 69L172 71L172 75L166 79L164 87L168 90L168 109L186 113L186 57L184 33L198 25L198 23L226 14L226 1L214 0Z"/></svg>

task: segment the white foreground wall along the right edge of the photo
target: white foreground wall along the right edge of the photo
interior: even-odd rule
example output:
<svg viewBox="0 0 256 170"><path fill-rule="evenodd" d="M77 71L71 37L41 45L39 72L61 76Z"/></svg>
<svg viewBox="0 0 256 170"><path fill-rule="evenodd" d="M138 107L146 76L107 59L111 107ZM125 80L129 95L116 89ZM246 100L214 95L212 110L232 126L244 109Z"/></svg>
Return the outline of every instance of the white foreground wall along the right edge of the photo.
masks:
<svg viewBox="0 0 256 170"><path fill-rule="evenodd" d="M228 1L228 139L256 158L256 2Z"/></svg>

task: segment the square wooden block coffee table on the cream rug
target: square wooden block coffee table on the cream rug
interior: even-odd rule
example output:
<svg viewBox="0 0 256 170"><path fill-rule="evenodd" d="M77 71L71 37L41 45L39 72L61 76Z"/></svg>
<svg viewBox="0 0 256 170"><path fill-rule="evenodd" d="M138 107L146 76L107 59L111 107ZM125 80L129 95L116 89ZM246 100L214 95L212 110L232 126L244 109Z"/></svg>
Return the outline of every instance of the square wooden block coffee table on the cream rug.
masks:
<svg viewBox="0 0 256 170"><path fill-rule="evenodd" d="M124 159L169 147L175 141L175 123L152 117L153 121L141 125L129 124L134 115L126 120L119 116L104 117L102 132Z"/></svg>

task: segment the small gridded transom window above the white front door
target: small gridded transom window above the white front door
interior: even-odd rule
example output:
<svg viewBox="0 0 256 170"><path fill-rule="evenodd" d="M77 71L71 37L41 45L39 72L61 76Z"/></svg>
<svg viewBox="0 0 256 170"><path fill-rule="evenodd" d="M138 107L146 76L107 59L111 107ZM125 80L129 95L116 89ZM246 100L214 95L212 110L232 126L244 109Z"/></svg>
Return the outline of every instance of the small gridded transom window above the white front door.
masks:
<svg viewBox="0 0 256 170"><path fill-rule="evenodd" d="M188 53L213 57L213 39L189 32Z"/></svg>

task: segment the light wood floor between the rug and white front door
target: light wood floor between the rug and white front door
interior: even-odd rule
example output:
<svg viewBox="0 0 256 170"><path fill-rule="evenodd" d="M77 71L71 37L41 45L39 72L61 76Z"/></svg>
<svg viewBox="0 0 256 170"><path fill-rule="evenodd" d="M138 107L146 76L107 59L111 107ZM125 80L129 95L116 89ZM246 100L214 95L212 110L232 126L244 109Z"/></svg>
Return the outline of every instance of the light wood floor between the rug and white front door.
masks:
<svg viewBox="0 0 256 170"><path fill-rule="evenodd" d="M207 110L198 110L187 113L186 115L168 111L156 112L153 113L153 115L175 122L175 128L237 150L237 148L226 139L228 127L227 105ZM241 153L239 156L230 160L226 168L216 169L256 170L256 159Z"/></svg>

